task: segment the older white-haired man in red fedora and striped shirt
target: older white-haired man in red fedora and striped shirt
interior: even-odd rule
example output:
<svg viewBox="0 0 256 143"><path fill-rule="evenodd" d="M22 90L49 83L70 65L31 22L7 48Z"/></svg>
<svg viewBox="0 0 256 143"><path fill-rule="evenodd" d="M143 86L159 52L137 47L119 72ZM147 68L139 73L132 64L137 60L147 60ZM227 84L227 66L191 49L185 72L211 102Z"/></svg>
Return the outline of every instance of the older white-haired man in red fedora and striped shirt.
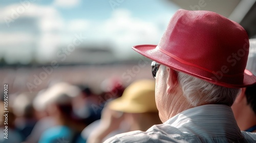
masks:
<svg viewBox="0 0 256 143"><path fill-rule="evenodd" d="M133 49L150 58L163 124L105 142L255 142L240 131L231 105L256 83L245 70L249 42L234 21L210 11L178 10L158 45ZM159 70L159 71L158 71Z"/></svg>

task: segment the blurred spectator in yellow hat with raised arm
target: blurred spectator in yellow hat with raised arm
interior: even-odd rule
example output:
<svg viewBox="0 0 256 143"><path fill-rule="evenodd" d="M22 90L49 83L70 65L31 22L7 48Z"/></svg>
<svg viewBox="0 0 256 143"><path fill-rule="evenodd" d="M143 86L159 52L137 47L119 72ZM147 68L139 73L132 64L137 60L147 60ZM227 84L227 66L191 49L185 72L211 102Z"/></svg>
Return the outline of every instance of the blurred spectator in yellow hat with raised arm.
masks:
<svg viewBox="0 0 256 143"><path fill-rule="evenodd" d="M122 97L111 101L102 112L88 142L102 142L118 133L141 130L161 124L155 103L155 81L139 80L128 86ZM89 129L84 129L83 133Z"/></svg>

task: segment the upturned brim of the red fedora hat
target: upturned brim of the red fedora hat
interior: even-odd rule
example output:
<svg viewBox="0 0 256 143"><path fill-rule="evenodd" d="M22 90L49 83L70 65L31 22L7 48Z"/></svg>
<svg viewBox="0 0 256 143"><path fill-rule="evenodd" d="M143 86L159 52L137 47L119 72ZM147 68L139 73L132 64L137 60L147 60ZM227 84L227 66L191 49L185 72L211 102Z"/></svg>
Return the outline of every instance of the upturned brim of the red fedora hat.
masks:
<svg viewBox="0 0 256 143"><path fill-rule="evenodd" d="M138 52L139 54L147 58L150 58L160 64L163 64L168 67L172 67L175 70L181 71L183 73L197 77L199 79L205 80L207 82L210 82L216 85L229 87L229 88L242 88L242 87L247 87L255 84L256 78L255 76L253 76L253 74L249 70L245 69L244 80L243 80L243 83L241 84L232 84L232 83L236 83L237 79L230 78L230 77L221 77L220 80L213 80L211 79L211 77L216 76L213 73L204 71L202 69L199 69L191 65L180 63L174 58L169 57L168 55L162 53L156 47L157 45L145 44L145 45L135 45L132 47L132 49Z"/></svg>

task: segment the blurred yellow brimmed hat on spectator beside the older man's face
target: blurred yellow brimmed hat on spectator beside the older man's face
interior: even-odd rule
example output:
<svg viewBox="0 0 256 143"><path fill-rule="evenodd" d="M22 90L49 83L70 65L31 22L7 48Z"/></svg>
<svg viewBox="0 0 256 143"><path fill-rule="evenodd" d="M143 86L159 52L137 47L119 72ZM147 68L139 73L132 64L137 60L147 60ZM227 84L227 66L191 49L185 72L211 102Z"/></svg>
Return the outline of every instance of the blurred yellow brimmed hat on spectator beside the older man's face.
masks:
<svg viewBox="0 0 256 143"><path fill-rule="evenodd" d="M155 81L139 80L129 85L122 97L109 103L109 108L126 113L158 112L155 101Z"/></svg>

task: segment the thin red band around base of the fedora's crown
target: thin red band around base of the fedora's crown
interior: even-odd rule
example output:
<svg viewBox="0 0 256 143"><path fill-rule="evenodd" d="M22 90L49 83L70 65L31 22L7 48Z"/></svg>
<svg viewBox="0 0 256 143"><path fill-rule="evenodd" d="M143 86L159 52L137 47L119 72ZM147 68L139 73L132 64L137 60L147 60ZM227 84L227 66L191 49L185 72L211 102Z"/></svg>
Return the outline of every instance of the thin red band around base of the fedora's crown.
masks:
<svg viewBox="0 0 256 143"><path fill-rule="evenodd" d="M204 71L208 71L209 73L214 73L213 70L210 70L210 69L207 69L207 68L205 68L205 67L196 65L196 64L194 64L194 63L190 63L190 62L187 62L187 61L182 60L182 59L180 59L179 57L177 57L177 56L175 56L175 55L173 55L173 54L171 54L171 53L169 53L169 52L167 52L167 51L161 49L158 45L156 46L156 49L159 50L160 52L164 53L165 55L167 55L167 56L169 56L169 57L172 57L172 58L174 58L175 60L177 60L177 61L179 61L179 62L181 62L181 63L183 63L183 64L186 64L186 65L189 65L189 66L193 66L193 67L197 67L197 68L202 69L202 70L204 70ZM226 74L224 74L224 73L222 73L222 74L223 74L224 77L240 77L240 76L243 76L243 75L244 75L244 73L240 73L240 74L236 74L236 75L226 75Z"/></svg>

